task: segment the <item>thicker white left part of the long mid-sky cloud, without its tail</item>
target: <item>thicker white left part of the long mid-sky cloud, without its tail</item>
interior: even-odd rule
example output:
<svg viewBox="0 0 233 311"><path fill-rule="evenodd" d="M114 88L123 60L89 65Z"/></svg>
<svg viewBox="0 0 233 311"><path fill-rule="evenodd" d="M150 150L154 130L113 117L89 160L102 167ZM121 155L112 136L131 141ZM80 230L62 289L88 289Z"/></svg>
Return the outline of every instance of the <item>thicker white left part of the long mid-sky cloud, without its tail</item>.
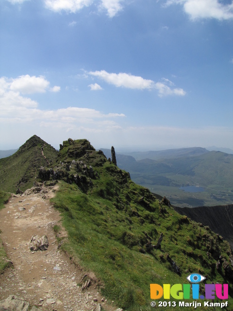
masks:
<svg viewBox="0 0 233 311"><path fill-rule="evenodd" d="M128 73L108 73L105 70L90 71L90 75L96 76L109 84L113 84L117 87L126 87L134 89L150 89L153 87L154 82L152 80L143 79L140 76L134 76Z"/></svg>

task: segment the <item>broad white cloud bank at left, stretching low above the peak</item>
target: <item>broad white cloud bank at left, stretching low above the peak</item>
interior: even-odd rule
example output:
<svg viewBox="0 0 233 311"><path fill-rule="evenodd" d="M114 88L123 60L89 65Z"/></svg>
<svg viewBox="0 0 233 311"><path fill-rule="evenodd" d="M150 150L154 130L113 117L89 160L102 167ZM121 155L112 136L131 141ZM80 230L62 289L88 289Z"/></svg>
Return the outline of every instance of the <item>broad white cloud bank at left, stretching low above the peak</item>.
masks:
<svg viewBox="0 0 233 311"><path fill-rule="evenodd" d="M31 98L22 96L20 91L25 91L25 85L9 83L10 79L5 77L0 78L0 111L1 123L7 122L38 122L41 124L60 123L60 126L67 127L71 124L89 124L95 127L99 122L105 120L112 121L114 125L115 118L125 117L122 113L101 113L99 110L82 108L82 107L67 107L54 110L42 110L38 108L38 103ZM21 82L21 80L20 80ZM13 87L11 87L13 86ZM17 87L16 87L17 86ZM46 86L44 86L46 87ZM53 91L59 91L60 88L55 86ZM20 90L20 91L19 91ZM32 88L30 88L32 90ZM35 90L35 89L33 89ZM36 89L38 90L38 89ZM26 88L26 92L29 90ZM101 121L100 121L101 120Z"/></svg>

